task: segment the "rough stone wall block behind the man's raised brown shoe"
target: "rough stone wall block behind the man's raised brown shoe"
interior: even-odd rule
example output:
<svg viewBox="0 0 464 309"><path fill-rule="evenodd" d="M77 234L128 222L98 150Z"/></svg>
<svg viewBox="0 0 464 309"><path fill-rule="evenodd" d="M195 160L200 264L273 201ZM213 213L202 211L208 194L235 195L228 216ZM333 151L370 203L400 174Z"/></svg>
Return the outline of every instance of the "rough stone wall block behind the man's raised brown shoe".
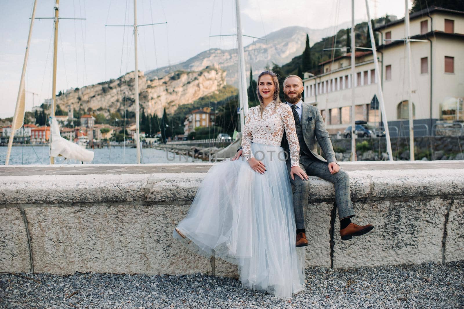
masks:
<svg viewBox="0 0 464 309"><path fill-rule="evenodd" d="M366 235L342 241L335 221L334 267L421 264L442 261L449 200L379 200L355 203L359 225L374 224Z"/></svg>

